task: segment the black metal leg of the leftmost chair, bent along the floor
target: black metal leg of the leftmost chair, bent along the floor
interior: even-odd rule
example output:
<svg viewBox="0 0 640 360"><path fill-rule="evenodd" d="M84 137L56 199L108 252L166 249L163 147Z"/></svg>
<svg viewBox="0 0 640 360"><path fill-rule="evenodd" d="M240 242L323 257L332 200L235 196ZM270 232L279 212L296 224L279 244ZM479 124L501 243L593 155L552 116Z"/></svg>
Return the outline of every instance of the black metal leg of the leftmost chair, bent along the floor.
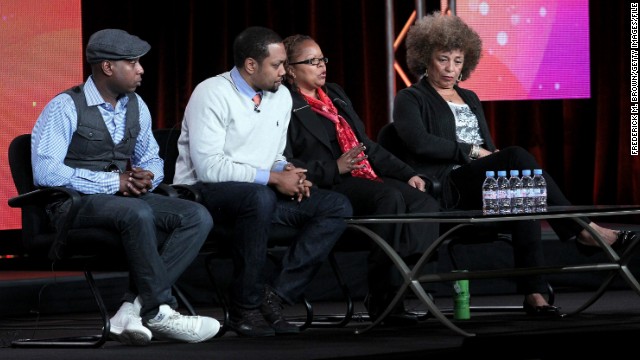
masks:
<svg viewBox="0 0 640 360"><path fill-rule="evenodd" d="M91 293L98 305L98 310L100 310L100 317L102 319L102 333L100 335L50 339L17 339L11 342L11 346L16 348L99 348L104 345L109 337L109 329L111 327L111 323L109 322L109 312L107 311L107 307L104 305L104 301L102 300L102 296L98 291L98 287L91 272L89 270L85 270L84 277L89 284Z"/></svg>

